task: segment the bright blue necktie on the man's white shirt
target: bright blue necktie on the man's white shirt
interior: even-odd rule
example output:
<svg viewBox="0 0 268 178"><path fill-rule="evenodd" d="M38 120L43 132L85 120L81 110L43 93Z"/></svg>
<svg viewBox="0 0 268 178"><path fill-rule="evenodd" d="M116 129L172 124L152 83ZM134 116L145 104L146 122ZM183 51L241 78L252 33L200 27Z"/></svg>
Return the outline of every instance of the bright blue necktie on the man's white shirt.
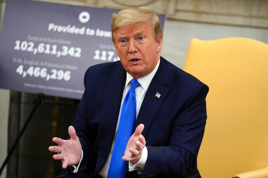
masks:
<svg viewBox="0 0 268 178"><path fill-rule="evenodd" d="M113 146L113 153L108 171L108 178L123 178L127 161L122 160L125 154L128 139L132 135L136 121L136 93L135 89L140 86L136 79L130 81L131 88L124 99L117 134Z"/></svg>

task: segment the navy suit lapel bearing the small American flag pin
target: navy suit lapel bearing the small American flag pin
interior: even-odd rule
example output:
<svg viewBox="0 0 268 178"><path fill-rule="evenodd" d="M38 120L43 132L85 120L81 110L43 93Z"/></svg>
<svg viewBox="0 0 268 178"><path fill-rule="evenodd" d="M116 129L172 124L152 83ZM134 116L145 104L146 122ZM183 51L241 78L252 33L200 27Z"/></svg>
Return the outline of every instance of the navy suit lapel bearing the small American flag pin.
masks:
<svg viewBox="0 0 268 178"><path fill-rule="evenodd" d="M156 112L158 111L160 105L162 104L167 94L169 93L169 90L164 87L164 85L167 85L168 83L169 78L168 78L167 66L161 57L159 68L155 73L155 76L151 81L150 86L145 94L134 127L136 128L139 124L144 124L144 129L142 132L142 135L144 136L146 135L146 132ZM161 94L159 98L155 96L157 92Z"/></svg>

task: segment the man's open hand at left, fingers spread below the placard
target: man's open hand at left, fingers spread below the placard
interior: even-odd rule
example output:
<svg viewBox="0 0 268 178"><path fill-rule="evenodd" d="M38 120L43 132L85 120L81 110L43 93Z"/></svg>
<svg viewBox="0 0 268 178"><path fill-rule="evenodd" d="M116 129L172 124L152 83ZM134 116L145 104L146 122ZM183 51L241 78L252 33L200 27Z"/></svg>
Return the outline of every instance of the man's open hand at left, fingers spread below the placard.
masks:
<svg viewBox="0 0 268 178"><path fill-rule="evenodd" d="M62 160L62 168L67 166L73 166L79 163L82 156L82 146L79 138L76 136L73 126L68 128L68 133L71 136L70 140L62 140L58 137L54 137L52 141L58 144L58 146L50 146L49 151L55 152L53 158L56 160Z"/></svg>

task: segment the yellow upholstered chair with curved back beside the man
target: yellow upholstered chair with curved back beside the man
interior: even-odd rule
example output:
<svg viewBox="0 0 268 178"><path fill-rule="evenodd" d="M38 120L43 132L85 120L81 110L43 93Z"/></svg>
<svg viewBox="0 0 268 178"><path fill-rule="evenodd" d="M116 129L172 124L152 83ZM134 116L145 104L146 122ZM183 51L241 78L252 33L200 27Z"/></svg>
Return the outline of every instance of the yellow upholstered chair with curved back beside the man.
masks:
<svg viewBox="0 0 268 178"><path fill-rule="evenodd" d="M210 87L202 178L268 178L268 44L192 39L183 70Z"/></svg>

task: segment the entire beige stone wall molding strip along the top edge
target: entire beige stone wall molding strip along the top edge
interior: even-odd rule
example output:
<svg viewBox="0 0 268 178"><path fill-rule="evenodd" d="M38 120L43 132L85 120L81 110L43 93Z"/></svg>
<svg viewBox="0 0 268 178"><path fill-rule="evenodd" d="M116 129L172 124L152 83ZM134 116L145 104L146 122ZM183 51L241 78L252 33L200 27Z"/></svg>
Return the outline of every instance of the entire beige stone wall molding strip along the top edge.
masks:
<svg viewBox="0 0 268 178"><path fill-rule="evenodd" d="M2 0L3 1L3 0ZM5 1L5 0L4 0ZM37 0L112 9L148 6L169 20L268 28L267 0Z"/></svg>

